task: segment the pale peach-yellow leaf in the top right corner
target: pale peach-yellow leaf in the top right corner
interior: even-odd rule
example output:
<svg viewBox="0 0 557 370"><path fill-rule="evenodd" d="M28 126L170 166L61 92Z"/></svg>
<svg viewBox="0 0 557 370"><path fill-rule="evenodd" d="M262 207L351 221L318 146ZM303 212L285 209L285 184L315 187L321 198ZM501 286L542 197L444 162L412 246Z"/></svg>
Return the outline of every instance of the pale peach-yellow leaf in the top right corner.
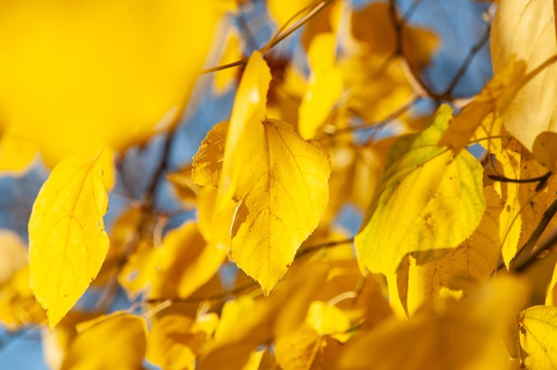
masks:
<svg viewBox="0 0 557 370"><path fill-rule="evenodd" d="M503 0L491 28L491 56L495 74L516 55L527 62L525 80L503 116L506 129L544 165L555 166L557 147L557 64L546 60L557 53L553 0ZM538 69L539 68L539 69ZM551 83L550 83L551 82ZM542 133L542 136L538 136Z"/></svg>

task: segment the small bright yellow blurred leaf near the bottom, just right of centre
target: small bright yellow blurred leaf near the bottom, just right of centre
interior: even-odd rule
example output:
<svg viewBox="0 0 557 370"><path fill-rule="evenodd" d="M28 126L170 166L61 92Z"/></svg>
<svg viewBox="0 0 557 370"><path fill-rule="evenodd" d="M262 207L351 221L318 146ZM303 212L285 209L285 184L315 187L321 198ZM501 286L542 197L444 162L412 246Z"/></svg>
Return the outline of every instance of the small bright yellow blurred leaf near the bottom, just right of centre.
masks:
<svg viewBox="0 0 557 370"><path fill-rule="evenodd" d="M346 342L350 334L350 320L338 307L326 302L311 302L305 322L321 336L331 335L339 342Z"/></svg>

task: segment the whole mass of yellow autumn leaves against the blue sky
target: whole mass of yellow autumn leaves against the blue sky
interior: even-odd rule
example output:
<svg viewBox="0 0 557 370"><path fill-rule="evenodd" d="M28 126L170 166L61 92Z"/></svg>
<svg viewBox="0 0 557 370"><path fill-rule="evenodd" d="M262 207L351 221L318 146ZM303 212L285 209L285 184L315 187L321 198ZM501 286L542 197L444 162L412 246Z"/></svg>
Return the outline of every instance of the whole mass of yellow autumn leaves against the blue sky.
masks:
<svg viewBox="0 0 557 370"><path fill-rule="evenodd" d="M419 4L269 0L275 36L244 58L221 23L222 67L202 71L243 2L4 2L0 168L40 153L52 172L28 248L0 234L3 325L48 324L62 369L555 368L555 5L498 2L494 76L463 103L469 60L442 93L421 79L438 39L408 25ZM273 53L299 28L308 76ZM171 171L199 72L217 93L240 76L230 120ZM163 160L108 234L115 158L159 132ZM163 236L164 181L196 217ZM347 204L365 213L353 238ZM134 303L112 312L118 287ZM74 308L88 289L99 302Z"/></svg>

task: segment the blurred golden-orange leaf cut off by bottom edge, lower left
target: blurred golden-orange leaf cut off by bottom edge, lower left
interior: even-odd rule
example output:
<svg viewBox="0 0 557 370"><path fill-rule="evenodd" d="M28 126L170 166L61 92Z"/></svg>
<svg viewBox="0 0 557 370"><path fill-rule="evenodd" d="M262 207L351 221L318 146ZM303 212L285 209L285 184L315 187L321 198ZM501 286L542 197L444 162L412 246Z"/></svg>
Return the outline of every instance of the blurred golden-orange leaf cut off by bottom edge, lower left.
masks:
<svg viewBox="0 0 557 370"><path fill-rule="evenodd" d="M139 369L145 356L147 325L140 316L115 312L78 327L61 370Z"/></svg>

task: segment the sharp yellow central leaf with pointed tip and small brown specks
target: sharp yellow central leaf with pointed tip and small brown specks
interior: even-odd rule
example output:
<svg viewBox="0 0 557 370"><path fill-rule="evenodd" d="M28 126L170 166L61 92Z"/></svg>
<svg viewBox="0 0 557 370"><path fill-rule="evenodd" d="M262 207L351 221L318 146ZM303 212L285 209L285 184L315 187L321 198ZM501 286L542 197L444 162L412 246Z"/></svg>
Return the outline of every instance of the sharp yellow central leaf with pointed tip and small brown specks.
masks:
<svg viewBox="0 0 557 370"><path fill-rule="evenodd" d="M291 125L267 120L262 129L238 179L230 258L269 294L325 212L330 170L327 155Z"/></svg>

